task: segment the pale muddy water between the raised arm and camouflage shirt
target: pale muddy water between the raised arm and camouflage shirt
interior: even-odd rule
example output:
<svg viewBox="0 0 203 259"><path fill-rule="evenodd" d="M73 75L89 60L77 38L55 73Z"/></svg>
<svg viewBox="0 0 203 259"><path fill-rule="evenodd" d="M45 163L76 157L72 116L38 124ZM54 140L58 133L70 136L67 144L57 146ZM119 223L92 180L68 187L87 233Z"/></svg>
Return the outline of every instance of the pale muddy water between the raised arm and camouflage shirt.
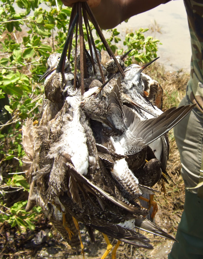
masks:
<svg viewBox="0 0 203 259"><path fill-rule="evenodd" d="M160 40L158 46L159 63L164 64L166 70L174 71L183 68L190 71L191 44L188 20L182 0L170 1L139 15L133 16L128 23L121 23L116 28L122 37L126 30L136 30L140 27L154 27L155 22L159 32L149 31L149 34Z"/></svg>

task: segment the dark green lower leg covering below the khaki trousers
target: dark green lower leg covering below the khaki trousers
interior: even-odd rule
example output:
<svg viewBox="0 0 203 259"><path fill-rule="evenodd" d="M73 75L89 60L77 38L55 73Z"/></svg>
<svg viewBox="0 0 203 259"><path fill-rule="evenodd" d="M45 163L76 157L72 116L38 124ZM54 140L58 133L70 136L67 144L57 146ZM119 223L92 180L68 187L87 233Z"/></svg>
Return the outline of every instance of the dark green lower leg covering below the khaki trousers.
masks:
<svg viewBox="0 0 203 259"><path fill-rule="evenodd" d="M168 259L203 258L203 199L185 191L185 204L176 239Z"/></svg>

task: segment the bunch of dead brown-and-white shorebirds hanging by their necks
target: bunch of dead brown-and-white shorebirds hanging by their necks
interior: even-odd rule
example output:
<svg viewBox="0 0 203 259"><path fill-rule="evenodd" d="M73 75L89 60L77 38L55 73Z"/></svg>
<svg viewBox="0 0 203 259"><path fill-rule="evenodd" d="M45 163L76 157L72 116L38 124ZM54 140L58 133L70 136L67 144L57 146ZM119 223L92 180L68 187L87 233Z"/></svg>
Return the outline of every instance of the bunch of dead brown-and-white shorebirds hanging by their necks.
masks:
<svg viewBox="0 0 203 259"><path fill-rule="evenodd" d="M80 73L74 79L66 54L50 55L40 120L29 118L22 129L30 182L26 210L40 205L72 246L80 244L76 221L86 225L93 242L94 229L148 249L150 240L137 229L175 241L152 222L146 200L155 183L170 179L167 132L193 106L162 112L163 90L142 72L152 62L125 67L128 53L116 56L125 77L111 58L102 66L105 84L96 58L95 73L86 53L83 95Z"/></svg>

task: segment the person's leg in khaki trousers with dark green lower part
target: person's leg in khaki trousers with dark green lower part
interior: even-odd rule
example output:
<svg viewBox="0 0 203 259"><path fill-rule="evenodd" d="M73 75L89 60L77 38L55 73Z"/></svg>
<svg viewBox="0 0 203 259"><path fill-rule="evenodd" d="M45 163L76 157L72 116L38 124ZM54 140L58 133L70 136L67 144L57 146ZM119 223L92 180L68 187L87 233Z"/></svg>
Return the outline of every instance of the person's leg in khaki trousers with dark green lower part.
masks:
<svg viewBox="0 0 203 259"><path fill-rule="evenodd" d="M186 97L180 105L189 104ZM199 182L202 159L203 119L193 111L174 127L174 135L180 153L185 187L195 187ZM184 211L178 225L176 239L168 259L203 258L203 199L197 189L185 190Z"/></svg>

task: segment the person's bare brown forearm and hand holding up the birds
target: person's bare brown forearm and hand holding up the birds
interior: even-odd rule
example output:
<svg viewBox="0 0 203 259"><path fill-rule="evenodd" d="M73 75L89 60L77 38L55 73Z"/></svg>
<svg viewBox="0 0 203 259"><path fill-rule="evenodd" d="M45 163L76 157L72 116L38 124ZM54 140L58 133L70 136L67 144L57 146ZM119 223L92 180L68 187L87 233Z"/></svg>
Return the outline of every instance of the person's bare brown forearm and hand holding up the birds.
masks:
<svg viewBox="0 0 203 259"><path fill-rule="evenodd" d="M62 0L66 6L72 6L78 0ZM85 2L87 0L81 0ZM122 21L153 9L154 7L165 3L166 0L88 0L89 4L99 26L102 29L113 28Z"/></svg>

